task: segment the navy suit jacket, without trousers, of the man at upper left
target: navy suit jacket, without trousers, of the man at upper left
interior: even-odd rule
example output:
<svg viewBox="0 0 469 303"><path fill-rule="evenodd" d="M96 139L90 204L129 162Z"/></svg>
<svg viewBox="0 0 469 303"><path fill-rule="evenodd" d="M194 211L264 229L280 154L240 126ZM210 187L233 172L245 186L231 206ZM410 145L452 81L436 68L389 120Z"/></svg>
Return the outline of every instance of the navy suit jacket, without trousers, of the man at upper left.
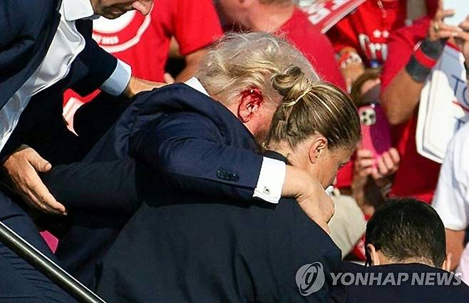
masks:
<svg viewBox="0 0 469 303"><path fill-rule="evenodd" d="M0 108L28 80L46 56L56 34L61 1L3 0L0 6ZM73 88L87 94L110 77L117 64L91 38L91 20L76 21L86 46L77 56L66 78L31 98L19 124L1 150L0 159L22 143L35 148L53 164L79 160L75 135L62 118L63 91ZM64 155L71 155L65 157ZM77 156L75 156L77 155ZM78 156L79 155L79 156Z"/></svg>

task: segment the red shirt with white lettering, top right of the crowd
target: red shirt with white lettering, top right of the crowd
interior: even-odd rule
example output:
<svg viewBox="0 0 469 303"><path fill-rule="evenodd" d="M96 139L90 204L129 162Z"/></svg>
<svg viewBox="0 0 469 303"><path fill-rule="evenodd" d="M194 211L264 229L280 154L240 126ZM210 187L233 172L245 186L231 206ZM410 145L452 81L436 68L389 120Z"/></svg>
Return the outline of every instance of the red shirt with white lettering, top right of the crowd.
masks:
<svg viewBox="0 0 469 303"><path fill-rule="evenodd" d="M380 65L386 61L389 34L405 25L407 4L406 0L381 4L383 9L377 0L365 1L327 32L336 52L355 48L366 66L370 61Z"/></svg>

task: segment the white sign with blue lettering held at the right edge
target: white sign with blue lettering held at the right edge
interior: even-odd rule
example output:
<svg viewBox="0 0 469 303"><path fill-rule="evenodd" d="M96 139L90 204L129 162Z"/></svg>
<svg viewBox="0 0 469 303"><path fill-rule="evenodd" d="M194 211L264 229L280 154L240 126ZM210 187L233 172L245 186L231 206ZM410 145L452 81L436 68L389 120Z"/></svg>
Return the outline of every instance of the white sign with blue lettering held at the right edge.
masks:
<svg viewBox="0 0 469 303"><path fill-rule="evenodd" d="M445 46L423 87L416 132L418 153L437 163L443 163L451 138L469 120L465 77L463 54Z"/></svg>

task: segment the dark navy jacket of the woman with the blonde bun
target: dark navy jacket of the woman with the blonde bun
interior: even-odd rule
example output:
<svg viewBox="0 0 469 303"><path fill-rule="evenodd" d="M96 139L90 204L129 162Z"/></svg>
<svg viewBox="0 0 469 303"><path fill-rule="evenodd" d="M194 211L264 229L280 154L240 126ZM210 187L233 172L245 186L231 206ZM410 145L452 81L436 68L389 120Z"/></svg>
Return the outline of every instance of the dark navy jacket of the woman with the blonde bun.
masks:
<svg viewBox="0 0 469 303"><path fill-rule="evenodd" d="M168 191L145 199L120 232L98 266L97 292L116 303L327 302L331 280L303 296L297 270L321 262L327 273L340 260L295 200L247 205Z"/></svg>

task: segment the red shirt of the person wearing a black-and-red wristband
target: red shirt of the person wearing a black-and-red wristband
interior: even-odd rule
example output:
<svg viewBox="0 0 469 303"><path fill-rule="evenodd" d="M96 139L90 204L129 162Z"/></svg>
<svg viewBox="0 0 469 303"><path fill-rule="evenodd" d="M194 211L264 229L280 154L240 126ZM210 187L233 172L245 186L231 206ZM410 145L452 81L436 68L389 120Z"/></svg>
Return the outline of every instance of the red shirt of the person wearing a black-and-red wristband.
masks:
<svg viewBox="0 0 469 303"><path fill-rule="evenodd" d="M396 31L389 41L388 61L383 68L383 91L402 68L406 66L418 41L426 37L430 19L416 21L413 26ZM417 153L416 128L418 107L412 118L393 128L393 145L401 155L401 164L394 179L391 195L412 196L431 202L438 182L440 165Z"/></svg>

